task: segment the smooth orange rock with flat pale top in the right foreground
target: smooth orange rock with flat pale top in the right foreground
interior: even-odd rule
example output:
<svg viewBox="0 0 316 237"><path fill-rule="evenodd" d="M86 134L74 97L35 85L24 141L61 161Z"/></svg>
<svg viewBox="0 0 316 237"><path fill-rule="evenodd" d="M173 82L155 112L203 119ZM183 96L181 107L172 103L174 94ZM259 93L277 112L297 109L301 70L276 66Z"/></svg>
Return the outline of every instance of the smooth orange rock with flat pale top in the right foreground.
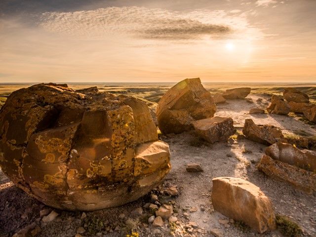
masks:
<svg viewBox="0 0 316 237"><path fill-rule="evenodd" d="M214 210L243 221L259 233L276 229L272 203L259 187L232 177L218 177L212 181Z"/></svg>

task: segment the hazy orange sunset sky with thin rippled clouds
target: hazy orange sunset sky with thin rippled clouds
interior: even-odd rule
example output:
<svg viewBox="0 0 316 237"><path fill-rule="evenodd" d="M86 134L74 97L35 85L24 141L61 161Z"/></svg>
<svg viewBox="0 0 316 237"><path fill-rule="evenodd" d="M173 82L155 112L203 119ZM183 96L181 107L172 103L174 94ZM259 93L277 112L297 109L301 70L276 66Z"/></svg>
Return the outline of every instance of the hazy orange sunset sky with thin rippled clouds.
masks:
<svg viewBox="0 0 316 237"><path fill-rule="evenodd" d="M1 0L0 82L316 82L316 0Z"/></svg>

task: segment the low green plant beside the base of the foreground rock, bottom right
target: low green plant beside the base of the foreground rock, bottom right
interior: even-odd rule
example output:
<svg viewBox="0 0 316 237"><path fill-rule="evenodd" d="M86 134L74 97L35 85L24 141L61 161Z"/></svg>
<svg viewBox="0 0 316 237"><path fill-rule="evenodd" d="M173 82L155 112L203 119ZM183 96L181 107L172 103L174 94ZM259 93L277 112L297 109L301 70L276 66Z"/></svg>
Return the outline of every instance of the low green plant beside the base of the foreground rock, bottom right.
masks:
<svg viewBox="0 0 316 237"><path fill-rule="evenodd" d="M286 216L276 215L276 226L285 237L300 237L301 227Z"/></svg>

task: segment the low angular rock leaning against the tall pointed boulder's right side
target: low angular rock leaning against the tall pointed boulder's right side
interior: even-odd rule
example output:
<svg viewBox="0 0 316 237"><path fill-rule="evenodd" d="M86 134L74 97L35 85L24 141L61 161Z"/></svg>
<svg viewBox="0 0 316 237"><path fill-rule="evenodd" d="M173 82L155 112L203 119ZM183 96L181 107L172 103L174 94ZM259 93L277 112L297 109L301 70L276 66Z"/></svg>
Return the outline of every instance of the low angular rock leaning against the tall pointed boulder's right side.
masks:
<svg viewBox="0 0 316 237"><path fill-rule="evenodd" d="M197 134L209 143L227 141L236 132L232 118L204 118L192 124Z"/></svg>

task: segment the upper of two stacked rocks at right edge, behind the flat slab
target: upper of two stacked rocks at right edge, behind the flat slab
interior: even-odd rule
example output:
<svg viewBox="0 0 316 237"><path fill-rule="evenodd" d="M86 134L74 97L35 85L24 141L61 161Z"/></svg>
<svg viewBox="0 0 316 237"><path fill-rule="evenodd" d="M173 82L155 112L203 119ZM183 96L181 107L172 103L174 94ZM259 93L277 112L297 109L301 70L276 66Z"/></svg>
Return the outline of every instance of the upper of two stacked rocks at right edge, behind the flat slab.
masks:
<svg viewBox="0 0 316 237"><path fill-rule="evenodd" d="M273 159L316 172L316 152L309 150L301 151L291 144L276 142L267 147L265 153Z"/></svg>

